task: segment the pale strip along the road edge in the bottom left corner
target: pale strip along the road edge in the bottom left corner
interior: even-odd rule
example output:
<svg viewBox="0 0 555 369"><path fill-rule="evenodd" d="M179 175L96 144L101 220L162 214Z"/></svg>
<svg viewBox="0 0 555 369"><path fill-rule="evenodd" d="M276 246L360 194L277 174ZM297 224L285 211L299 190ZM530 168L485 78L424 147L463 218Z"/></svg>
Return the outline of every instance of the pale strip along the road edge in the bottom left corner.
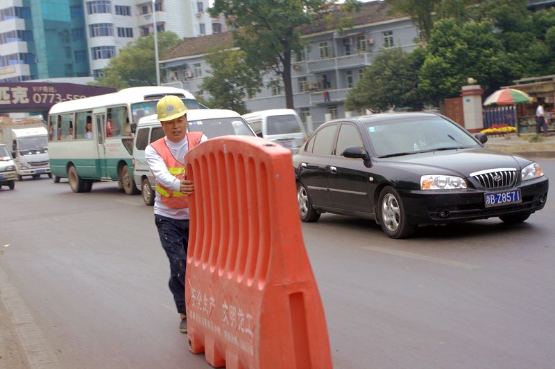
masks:
<svg viewBox="0 0 555 369"><path fill-rule="evenodd" d="M3 303L8 311L10 323L23 348L29 367L32 369L62 368L31 311L19 295L17 288L8 280L8 274L2 267L0 267L0 303Z"/></svg>

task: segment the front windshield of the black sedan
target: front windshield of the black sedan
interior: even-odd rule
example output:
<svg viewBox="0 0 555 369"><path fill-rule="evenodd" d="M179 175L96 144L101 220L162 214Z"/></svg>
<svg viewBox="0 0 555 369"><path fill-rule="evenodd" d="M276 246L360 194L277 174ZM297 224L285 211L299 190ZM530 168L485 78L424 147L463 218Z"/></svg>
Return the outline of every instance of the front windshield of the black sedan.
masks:
<svg viewBox="0 0 555 369"><path fill-rule="evenodd" d="M472 136L440 116L384 120L366 123L365 128L377 156L479 147Z"/></svg>

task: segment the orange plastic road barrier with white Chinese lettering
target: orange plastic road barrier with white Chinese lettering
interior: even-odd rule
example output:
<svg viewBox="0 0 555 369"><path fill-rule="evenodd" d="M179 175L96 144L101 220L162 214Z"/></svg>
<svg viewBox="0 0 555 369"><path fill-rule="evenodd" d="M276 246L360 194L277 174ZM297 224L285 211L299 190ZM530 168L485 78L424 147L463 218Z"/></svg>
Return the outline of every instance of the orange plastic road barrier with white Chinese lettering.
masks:
<svg viewBox="0 0 555 369"><path fill-rule="evenodd" d="M187 154L189 348L228 369L332 368L302 241L291 152L223 136Z"/></svg>

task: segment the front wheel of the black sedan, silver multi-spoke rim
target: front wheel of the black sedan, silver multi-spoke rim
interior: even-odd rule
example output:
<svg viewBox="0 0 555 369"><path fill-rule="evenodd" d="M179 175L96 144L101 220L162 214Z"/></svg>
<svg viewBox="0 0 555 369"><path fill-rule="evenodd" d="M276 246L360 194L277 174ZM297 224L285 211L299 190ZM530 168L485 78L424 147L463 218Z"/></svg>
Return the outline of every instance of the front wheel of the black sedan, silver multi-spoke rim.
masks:
<svg viewBox="0 0 555 369"><path fill-rule="evenodd" d="M409 224L401 197L391 186L379 193L379 219L382 230L391 238L409 237L416 228Z"/></svg>

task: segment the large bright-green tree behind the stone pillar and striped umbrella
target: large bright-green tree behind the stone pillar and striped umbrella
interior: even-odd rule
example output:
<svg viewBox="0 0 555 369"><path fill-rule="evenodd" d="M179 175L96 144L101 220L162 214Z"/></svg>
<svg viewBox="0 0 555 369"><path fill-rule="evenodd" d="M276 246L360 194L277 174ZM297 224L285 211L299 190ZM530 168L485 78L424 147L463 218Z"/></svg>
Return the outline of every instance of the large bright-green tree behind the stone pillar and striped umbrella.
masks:
<svg viewBox="0 0 555 369"><path fill-rule="evenodd" d="M468 78L486 93L512 82L512 64L490 22L437 21L420 69L419 90L426 102L459 96Z"/></svg>

